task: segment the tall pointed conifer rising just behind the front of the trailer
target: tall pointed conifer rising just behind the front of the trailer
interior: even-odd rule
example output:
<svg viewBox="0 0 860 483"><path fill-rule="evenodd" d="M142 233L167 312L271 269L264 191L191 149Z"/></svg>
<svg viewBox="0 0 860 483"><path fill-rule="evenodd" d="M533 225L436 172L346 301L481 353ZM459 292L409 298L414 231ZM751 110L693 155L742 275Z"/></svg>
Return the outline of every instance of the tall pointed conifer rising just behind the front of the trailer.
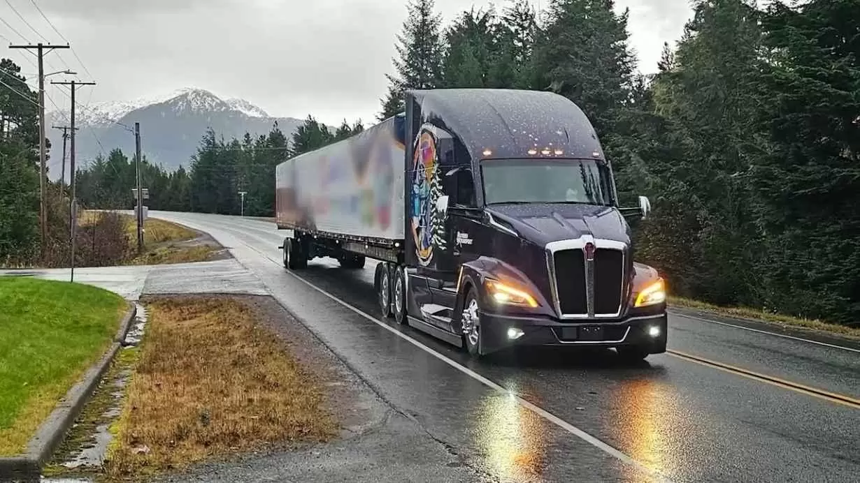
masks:
<svg viewBox="0 0 860 483"><path fill-rule="evenodd" d="M396 75L386 75L389 88L379 120L403 111L405 89L435 88L441 81L442 16L435 14L433 9L433 0L411 0L408 3L407 20L403 22L402 33L397 35Z"/></svg>

